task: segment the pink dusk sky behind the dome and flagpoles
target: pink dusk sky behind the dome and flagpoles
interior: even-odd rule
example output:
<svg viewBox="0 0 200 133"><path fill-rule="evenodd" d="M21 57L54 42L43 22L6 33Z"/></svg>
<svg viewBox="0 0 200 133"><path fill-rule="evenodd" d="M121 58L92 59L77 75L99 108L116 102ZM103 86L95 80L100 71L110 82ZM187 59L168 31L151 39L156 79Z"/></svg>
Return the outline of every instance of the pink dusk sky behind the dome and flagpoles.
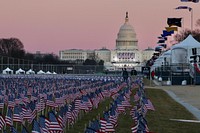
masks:
<svg viewBox="0 0 200 133"><path fill-rule="evenodd" d="M191 13L174 9L182 5L193 8L195 25L200 3L180 0L4 0L0 2L0 38L19 38L31 53L115 49L128 11L139 49L155 48L167 18L182 17L184 28L190 28Z"/></svg>

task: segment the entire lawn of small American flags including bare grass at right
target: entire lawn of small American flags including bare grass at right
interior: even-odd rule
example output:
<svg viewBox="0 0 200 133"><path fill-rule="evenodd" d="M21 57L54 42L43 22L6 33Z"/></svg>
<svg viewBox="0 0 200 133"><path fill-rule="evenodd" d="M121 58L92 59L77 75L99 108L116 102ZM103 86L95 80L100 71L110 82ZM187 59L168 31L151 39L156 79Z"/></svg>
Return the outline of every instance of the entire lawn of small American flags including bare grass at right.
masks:
<svg viewBox="0 0 200 133"><path fill-rule="evenodd" d="M7 132L199 131L199 124L170 121L193 116L139 79L127 86L110 76L4 76L0 86L0 128Z"/></svg>

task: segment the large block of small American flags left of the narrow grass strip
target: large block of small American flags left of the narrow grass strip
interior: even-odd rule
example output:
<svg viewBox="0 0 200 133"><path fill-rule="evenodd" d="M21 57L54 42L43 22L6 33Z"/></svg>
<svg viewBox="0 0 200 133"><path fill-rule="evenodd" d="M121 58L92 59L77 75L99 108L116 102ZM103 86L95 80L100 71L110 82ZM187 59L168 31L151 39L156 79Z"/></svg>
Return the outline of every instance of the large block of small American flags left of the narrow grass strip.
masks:
<svg viewBox="0 0 200 133"><path fill-rule="evenodd" d="M0 128L14 132L71 132L79 118L101 103L107 109L111 97L130 88L121 77L110 76L2 75L0 85Z"/></svg>

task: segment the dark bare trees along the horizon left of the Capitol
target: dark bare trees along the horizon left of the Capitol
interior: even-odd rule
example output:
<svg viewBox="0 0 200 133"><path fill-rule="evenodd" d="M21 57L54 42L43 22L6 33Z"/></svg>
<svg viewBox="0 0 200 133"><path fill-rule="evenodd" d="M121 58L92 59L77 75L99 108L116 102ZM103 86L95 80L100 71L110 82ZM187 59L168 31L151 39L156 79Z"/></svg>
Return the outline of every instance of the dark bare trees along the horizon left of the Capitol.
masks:
<svg viewBox="0 0 200 133"><path fill-rule="evenodd" d="M0 38L0 56L28 60L35 64L73 64L60 60L54 53L33 54L25 51L23 43L18 38ZM5 61L4 61L5 62ZM80 62L79 62L80 63ZM81 65L103 65L103 60L98 61L96 58L86 59Z"/></svg>

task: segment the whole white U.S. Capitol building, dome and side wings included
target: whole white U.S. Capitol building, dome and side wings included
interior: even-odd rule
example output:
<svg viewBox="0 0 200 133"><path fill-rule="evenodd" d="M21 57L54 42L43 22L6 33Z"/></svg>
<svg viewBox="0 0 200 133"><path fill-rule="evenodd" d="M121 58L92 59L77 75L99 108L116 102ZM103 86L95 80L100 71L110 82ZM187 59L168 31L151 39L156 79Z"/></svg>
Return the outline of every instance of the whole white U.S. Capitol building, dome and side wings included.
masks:
<svg viewBox="0 0 200 133"><path fill-rule="evenodd" d="M119 29L114 50L106 48L98 50L69 49L60 51L59 56L61 60L68 61L84 61L93 56L103 60L106 69L121 70L123 67L141 66L143 62L152 57L153 53L154 49L151 48L143 51L138 49L136 33L129 23L128 12L126 12L125 23Z"/></svg>

